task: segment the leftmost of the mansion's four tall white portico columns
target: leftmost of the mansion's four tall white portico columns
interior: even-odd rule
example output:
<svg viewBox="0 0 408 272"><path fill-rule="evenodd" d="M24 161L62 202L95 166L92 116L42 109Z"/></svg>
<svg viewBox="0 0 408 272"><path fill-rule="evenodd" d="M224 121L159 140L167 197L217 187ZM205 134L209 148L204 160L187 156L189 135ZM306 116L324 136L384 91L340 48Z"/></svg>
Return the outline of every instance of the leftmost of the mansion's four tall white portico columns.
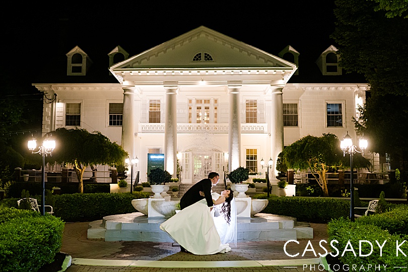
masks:
<svg viewBox="0 0 408 272"><path fill-rule="evenodd" d="M134 88L123 88L122 147L134 157Z"/></svg>

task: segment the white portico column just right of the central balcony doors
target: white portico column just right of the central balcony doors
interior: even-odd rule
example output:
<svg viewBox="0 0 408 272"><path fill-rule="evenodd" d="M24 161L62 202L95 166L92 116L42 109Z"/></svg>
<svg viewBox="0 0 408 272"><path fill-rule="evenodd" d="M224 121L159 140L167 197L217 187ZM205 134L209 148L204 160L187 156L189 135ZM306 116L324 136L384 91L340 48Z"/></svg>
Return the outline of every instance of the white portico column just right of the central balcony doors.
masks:
<svg viewBox="0 0 408 272"><path fill-rule="evenodd" d="M239 90L241 86L228 86L230 97L230 117L228 121L228 171L241 166L241 116Z"/></svg>

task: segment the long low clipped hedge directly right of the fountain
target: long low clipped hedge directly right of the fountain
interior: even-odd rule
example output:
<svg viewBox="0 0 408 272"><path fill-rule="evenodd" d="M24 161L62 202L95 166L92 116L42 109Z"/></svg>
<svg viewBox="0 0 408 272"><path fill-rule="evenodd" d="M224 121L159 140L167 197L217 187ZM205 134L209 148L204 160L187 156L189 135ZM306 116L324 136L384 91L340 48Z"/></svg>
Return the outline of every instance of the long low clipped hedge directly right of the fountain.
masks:
<svg viewBox="0 0 408 272"><path fill-rule="evenodd" d="M265 198L265 194L253 198ZM298 221L327 223L331 219L348 217L350 201L333 198L272 196L262 213L296 217Z"/></svg>

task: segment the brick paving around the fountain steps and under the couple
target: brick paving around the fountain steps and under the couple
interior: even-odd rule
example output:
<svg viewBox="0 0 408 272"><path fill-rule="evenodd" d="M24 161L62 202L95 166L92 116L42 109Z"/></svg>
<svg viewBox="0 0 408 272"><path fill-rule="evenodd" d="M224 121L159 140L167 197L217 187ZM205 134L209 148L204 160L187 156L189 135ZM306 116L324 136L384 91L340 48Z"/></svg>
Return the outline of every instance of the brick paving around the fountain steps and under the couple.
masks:
<svg viewBox="0 0 408 272"><path fill-rule="evenodd" d="M328 240L326 224L310 224L314 229L314 238L311 240L316 253L324 253L319 246L319 241ZM88 240L88 222L66 223L61 251L70 254L73 258L109 259L109 260L147 260L147 261L242 261L242 260L288 260L316 258L313 252L307 251L301 256L308 240L299 240L287 246L290 254L300 254L297 257L289 257L284 252L285 241L270 242L246 242L238 243L237 248L226 254L193 255L180 252L179 246L172 243L155 242L105 242L101 239ZM328 248L328 246L326 246ZM309 247L310 249L310 247ZM234 268L153 268L153 267L112 267L112 266L88 266L73 264L66 271L303 271L302 266L297 268L285 268L280 266L264 267L234 267ZM317 270L317 267L316 267Z"/></svg>

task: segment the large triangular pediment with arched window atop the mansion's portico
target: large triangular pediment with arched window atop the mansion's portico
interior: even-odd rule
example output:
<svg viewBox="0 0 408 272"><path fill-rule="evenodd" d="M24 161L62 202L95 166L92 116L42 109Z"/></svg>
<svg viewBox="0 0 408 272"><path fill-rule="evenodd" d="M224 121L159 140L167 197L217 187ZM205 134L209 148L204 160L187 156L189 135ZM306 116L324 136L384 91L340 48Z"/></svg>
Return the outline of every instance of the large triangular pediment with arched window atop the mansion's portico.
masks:
<svg viewBox="0 0 408 272"><path fill-rule="evenodd" d="M296 67L293 63L201 26L111 67L121 69Z"/></svg>

